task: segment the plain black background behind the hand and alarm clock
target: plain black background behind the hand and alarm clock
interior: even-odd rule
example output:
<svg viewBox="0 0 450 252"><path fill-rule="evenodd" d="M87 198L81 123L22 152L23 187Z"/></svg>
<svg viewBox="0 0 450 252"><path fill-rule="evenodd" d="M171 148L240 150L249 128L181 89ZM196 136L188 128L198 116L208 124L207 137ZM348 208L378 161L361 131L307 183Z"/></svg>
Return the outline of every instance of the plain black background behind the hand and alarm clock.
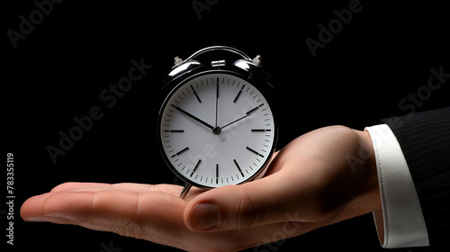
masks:
<svg viewBox="0 0 450 252"><path fill-rule="evenodd" d="M352 1L207 1L212 4L200 18L190 0L112 2L53 4L15 48L7 31L20 31L20 15L29 20L38 8L32 1L2 7L3 125L5 150L14 153L16 196L14 247L6 246L2 235L7 251L96 252L111 241L123 252L174 249L76 226L25 223L19 212L27 198L67 181L178 183L156 142L157 112L165 95L160 84L175 56L187 58L211 45L262 55L275 76L278 148L320 127L363 130L406 114L410 109L401 107L402 99L424 90L430 68L450 73L448 9L430 1L362 0L362 10L316 50L316 57L305 40L319 40L318 25L328 26L337 18L333 10ZM112 108L106 107L99 94L128 76L133 58L153 67ZM412 107L427 111L448 105L449 82ZM103 118L53 164L46 148L58 147L58 132L67 132L76 125L73 118L87 115L93 106L102 109ZM271 248L382 250L371 214Z"/></svg>

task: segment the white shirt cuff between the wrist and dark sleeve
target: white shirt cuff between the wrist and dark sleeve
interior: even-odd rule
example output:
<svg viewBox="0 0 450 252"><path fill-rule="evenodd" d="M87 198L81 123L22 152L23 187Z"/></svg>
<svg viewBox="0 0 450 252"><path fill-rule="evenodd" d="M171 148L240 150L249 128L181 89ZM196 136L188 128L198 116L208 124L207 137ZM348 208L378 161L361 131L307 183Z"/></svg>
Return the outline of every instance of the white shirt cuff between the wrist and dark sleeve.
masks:
<svg viewBox="0 0 450 252"><path fill-rule="evenodd" d="M383 210L374 211L383 247L429 246L428 231L410 168L388 125L365 128L374 144Z"/></svg>

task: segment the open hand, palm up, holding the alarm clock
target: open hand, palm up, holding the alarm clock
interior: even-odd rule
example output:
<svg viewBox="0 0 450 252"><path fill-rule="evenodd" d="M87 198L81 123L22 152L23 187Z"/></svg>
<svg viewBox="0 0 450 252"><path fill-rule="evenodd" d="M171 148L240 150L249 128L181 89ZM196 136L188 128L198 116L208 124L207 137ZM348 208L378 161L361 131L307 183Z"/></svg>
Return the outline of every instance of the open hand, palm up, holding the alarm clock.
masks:
<svg viewBox="0 0 450 252"><path fill-rule="evenodd" d="M352 160L358 160L352 163ZM294 139L265 177L184 200L172 184L60 184L31 197L27 221L75 224L190 251L232 251L381 209L367 132L333 126Z"/></svg>

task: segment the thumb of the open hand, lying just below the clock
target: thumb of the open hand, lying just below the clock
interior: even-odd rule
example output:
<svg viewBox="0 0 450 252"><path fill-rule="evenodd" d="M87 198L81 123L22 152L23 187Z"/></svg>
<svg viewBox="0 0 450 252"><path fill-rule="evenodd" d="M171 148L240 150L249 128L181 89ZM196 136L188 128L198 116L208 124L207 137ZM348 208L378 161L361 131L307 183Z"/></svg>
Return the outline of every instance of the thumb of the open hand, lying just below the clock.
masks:
<svg viewBox="0 0 450 252"><path fill-rule="evenodd" d="M286 192L298 184L279 183L280 174L194 197L184 210L184 224L194 231L220 231L300 219L295 211L298 195Z"/></svg>

